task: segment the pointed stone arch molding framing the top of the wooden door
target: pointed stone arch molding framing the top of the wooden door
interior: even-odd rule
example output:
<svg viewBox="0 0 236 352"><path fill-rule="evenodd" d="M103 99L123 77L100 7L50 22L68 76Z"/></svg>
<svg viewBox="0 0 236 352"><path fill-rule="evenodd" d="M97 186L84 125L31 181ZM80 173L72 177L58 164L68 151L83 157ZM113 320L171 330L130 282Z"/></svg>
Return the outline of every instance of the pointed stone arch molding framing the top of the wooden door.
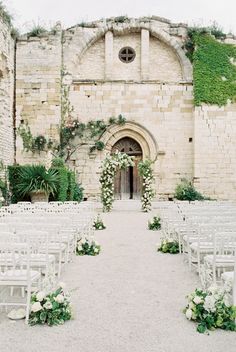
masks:
<svg viewBox="0 0 236 352"><path fill-rule="evenodd" d="M153 135L142 125L135 122L126 122L124 125L115 125L107 129L101 138L105 144L105 151L111 153L116 142L124 137L133 138L142 148L143 159L155 162L158 155L158 146Z"/></svg>

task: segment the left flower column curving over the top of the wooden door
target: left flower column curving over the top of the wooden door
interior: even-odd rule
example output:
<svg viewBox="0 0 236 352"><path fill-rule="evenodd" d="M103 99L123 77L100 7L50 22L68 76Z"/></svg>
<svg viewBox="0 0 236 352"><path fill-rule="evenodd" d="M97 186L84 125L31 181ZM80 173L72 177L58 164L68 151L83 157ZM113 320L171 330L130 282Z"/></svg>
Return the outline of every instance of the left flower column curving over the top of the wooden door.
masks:
<svg viewBox="0 0 236 352"><path fill-rule="evenodd" d="M108 154L102 164L101 183L101 201L103 211L109 212L112 209L114 201L114 177L117 169L126 169L128 166L134 166L134 157L125 153L116 152Z"/></svg>

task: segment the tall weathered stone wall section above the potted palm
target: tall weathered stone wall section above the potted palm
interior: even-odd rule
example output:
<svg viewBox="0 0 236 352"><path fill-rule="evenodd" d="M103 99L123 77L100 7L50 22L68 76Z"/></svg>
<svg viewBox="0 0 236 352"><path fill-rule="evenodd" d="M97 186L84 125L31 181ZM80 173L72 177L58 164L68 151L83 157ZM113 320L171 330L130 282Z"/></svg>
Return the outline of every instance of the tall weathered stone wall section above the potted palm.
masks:
<svg viewBox="0 0 236 352"><path fill-rule="evenodd" d="M43 37L21 37L16 51L16 125L28 123L33 136L58 139L61 121L61 30ZM16 140L18 163L43 162L45 153L23 152Z"/></svg>

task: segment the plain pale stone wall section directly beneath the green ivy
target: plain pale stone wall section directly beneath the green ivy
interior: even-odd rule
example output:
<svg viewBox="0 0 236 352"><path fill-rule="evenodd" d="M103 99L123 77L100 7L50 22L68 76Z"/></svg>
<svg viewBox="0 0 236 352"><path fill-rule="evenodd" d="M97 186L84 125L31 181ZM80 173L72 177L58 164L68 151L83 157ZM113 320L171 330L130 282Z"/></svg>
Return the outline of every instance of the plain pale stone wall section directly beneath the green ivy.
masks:
<svg viewBox="0 0 236 352"><path fill-rule="evenodd" d="M194 180L204 194L236 199L236 105L195 109Z"/></svg>

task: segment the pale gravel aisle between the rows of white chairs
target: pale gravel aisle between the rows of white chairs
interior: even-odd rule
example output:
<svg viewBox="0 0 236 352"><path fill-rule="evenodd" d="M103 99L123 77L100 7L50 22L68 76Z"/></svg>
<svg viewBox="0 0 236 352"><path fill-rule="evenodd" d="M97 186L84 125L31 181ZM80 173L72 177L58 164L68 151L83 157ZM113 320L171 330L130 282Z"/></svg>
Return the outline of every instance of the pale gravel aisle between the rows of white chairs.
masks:
<svg viewBox="0 0 236 352"><path fill-rule="evenodd" d="M160 232L137 202L116 202L96 232L97 257L76 257L63 273L74 320L28 327L0 314L1 352L235 352L236 334L200 335L185 319L186 294L199 285L179 255L157 253Z"/></svg>

